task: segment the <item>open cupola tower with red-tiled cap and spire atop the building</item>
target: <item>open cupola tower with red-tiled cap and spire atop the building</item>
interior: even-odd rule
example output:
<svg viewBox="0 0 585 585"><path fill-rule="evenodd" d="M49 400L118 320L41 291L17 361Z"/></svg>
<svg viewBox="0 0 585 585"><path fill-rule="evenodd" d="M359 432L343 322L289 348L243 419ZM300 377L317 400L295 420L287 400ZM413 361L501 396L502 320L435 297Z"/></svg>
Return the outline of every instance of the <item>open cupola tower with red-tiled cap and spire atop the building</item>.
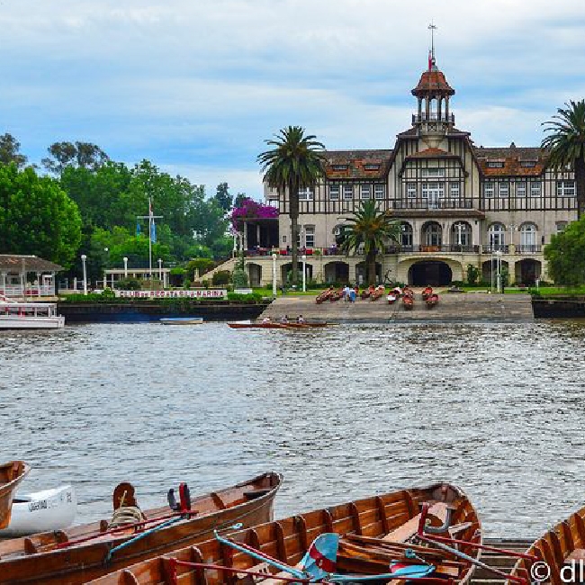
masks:
<svg viewBox="0 0 585 585"><path fill-rule="evenodd" d="M435 59L434 31L430 24L431 48L428 51L428 70L425 71L412 94L419 100L419 112L413 114L412 125L417 127L419 135L444 136L455 125L455 116L449 113L449 98L455 95L455 89L446 81L445 74L439 71Z"/></svg>

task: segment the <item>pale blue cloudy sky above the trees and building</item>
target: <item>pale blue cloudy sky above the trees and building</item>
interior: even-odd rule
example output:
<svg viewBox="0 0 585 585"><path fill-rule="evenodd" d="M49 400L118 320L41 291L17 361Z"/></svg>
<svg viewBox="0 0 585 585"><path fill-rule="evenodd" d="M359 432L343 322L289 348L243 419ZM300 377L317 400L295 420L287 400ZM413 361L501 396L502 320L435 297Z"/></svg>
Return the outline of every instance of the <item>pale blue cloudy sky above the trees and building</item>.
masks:
<svg viewBox="0 0 585 585"><path fill-rule="evenodd" d="M60 140L231 193L288 125L329 149L392 148L428 65L477 145L537 146L585 97L582 0L0 0L0 133Z"/></svg>

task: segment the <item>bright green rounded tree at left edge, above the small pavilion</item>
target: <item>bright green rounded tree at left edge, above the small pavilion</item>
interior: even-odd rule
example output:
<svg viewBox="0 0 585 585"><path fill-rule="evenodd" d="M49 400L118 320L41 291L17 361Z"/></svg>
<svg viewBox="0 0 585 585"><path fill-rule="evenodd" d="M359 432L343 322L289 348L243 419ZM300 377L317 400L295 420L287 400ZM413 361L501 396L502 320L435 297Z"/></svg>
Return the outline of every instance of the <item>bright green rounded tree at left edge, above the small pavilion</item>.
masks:
<svg viewBox="0 0 585 585"><path fill-rule="evenodd" d="M15 163L0 166L0 253L35 254L71 266L81 216L58 182Z"/></svg>

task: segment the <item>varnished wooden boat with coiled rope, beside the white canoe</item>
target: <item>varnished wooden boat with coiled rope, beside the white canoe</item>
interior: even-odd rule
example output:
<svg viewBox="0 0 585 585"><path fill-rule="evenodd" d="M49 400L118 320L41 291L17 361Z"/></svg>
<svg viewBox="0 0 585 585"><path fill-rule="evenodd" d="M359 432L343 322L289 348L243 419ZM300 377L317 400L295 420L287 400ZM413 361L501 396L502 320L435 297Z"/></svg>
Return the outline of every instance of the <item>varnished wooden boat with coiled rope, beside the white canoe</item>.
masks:
<svg viewBox="0 0 585 585"><path fill-rule="evenodd" d="M272 519L281 482L280 475L265 473L192 501L182 484L180 504L171 508L173 497L169 494L169 505L142 512L145 518L138 522L134 518L131 524L112 528L103 520L70 528L67 533L40 533L1 542L0 583L85 583L156 554L200 543L209 539L214 529L234 523L256 526ZM124 507L135 503L131 485L118 486L113 500L114 509L119 509L123 500L121 514L130 513Z"/></svg>

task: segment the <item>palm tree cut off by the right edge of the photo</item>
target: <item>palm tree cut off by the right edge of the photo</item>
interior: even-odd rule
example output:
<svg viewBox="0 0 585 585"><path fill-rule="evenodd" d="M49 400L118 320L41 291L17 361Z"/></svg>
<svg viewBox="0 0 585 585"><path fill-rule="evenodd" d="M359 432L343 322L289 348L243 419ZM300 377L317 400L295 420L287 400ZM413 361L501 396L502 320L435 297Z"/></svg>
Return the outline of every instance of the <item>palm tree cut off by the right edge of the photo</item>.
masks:
<svg viewBox="0 0 585 585"><path fill-rule="evenodd" d="M568 166L575 171L575 194L577 195L577 218L585 211L585 100L565 103L553 120L545 121L545 137L542 148L550 150L548 165L557 171Z"/></svg>

